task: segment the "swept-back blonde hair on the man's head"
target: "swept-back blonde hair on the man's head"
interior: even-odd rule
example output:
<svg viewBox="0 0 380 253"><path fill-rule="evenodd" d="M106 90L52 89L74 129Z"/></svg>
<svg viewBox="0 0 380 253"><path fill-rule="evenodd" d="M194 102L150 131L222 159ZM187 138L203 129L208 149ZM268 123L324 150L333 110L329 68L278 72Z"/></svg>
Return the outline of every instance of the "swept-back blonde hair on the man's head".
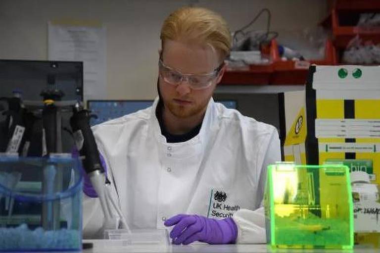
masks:
<svg viewBox="0 0 380 253"><path fill-rule="evenodd" d="M160 35L162 49L166 40L197 41L210 45L225 59L231 50L227 22L217 13L202 7L182 7L164 21Z"/></svg>

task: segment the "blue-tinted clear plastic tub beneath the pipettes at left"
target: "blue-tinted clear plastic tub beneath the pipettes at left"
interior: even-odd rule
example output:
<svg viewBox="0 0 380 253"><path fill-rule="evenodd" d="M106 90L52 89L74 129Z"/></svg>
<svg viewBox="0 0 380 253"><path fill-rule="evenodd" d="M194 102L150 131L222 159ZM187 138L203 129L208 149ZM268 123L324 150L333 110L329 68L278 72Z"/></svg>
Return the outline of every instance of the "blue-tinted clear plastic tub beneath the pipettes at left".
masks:
<svg viewBox="0 0 380 253"><path fill-rule="evenodd" d="M81 190L77 159L0 155L0 251L80 251Z"/></svg>

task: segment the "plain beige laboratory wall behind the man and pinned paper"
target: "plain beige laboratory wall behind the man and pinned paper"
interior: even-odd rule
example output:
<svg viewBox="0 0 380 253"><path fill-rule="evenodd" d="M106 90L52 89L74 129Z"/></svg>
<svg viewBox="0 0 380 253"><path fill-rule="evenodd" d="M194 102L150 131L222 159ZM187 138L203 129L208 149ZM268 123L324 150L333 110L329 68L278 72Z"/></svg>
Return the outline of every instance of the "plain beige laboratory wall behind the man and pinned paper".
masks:
<svg viewBox="0 0 380 253"><path fill-rule="evenodd" d="M47 22L95 20L106 27L106 94L95 99L153 99L156 96L159 33L164 18L183 5L211 8L231 30L262 9L272 13L271 30L316 26L326 0L0 0L0 59L47 60ZM265 30L262 15L252 29Z"/></svg>

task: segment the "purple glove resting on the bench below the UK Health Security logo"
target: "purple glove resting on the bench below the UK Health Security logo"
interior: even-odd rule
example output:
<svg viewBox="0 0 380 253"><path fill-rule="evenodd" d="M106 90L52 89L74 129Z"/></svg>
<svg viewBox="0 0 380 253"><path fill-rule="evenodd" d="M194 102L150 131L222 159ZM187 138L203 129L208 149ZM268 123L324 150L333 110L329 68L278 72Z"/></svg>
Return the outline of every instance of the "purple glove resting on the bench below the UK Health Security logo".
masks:
<svg viewBox="0 0 380 253"><path fill-rule="evenodd" d="M175 225L170 232L173 244L190 244L194 241L233 244L238 236L238 227L232 218L217 220L199 215L178 214L167 219L164 225Z"/></svg>

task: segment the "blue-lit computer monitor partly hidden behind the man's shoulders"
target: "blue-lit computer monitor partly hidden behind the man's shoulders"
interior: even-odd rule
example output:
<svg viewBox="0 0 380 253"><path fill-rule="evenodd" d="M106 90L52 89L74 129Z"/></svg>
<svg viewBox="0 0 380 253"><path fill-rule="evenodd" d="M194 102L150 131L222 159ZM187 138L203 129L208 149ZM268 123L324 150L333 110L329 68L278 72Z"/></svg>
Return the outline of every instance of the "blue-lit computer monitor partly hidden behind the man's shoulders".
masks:
<svg viewBox="0 0 380 253"><path fill-rule="evenodd" d="M233 100L220 100L227 108L237 108L237 102ZM94 126L104 121L121 117L123 115L145 109L153 104L152 100L89 100L87 108L97 118L91 118L90 125Z"/></svg>

